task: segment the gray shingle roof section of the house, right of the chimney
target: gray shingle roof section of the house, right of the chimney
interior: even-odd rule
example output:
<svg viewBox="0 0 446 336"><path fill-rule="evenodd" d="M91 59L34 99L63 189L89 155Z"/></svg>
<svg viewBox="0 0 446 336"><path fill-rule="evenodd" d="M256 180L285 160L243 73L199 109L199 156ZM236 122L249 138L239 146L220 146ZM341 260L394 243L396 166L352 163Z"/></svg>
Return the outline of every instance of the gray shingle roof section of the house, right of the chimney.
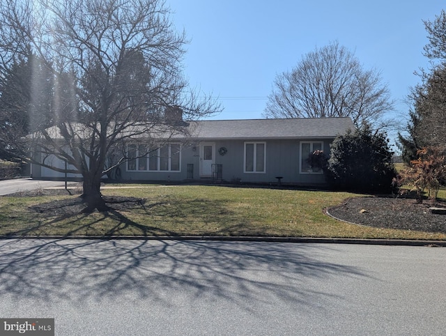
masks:
<svg viewBox="0 0 446 336"><path fill-rule="evenodd" d="M350 118L246 119L192 122L197 139L324 139L345 134Z"/></svg>

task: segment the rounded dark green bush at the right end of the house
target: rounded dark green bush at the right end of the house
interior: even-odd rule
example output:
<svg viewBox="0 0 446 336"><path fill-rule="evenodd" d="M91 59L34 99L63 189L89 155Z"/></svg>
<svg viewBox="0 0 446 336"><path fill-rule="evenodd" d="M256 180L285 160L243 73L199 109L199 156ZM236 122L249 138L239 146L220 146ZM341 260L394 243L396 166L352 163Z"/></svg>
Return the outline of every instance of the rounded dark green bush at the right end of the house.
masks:
<svg viewBox="0 0 446 336"><path fill-rule="evenodd" d="M364 127L339 135L331 145L325 171L335 189L356 192L390 193L397 171L393 152L384 133L372 133Z"/></svg>

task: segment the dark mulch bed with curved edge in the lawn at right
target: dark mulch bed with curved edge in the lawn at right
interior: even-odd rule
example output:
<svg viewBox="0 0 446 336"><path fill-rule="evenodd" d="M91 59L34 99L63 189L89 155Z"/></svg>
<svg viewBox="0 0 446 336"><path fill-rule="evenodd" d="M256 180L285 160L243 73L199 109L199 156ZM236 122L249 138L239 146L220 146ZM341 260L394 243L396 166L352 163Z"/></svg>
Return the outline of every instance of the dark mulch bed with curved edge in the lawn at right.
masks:
<svg viewBox="0 0 446 336"><path fill-rule="evenodd" d="M392 197L354 197L328 209L340 220L385 229L440 232L446 234L446 215L431 213L429 208L446 208L446 202Z"/></svg>

